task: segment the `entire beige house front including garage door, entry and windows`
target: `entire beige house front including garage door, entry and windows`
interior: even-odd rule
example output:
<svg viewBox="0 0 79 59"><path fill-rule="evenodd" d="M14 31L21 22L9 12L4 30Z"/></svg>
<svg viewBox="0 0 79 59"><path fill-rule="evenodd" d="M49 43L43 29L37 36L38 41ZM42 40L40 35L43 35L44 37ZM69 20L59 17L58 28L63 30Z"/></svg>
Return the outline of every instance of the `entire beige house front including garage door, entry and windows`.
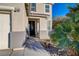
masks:
<svg viewBox="0 0 79 59"><path fill-rule="evenodd" d="M0 3L0 49L22 47L27 34L26 29L29 36L42 40L50 39L51 13L50 4Z"/></svg>

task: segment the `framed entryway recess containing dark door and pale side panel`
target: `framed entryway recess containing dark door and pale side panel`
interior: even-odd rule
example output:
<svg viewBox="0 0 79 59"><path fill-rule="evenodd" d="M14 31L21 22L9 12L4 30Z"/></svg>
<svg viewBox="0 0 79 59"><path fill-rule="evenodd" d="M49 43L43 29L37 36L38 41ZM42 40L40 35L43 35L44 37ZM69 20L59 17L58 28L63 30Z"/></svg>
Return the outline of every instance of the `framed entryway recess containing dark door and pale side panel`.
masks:
<svg viewBox="0 0 79 59"><path fill-rule="evenodd" d="M28 18L29 35L39 38L40 34L40 19Z"/></svg>

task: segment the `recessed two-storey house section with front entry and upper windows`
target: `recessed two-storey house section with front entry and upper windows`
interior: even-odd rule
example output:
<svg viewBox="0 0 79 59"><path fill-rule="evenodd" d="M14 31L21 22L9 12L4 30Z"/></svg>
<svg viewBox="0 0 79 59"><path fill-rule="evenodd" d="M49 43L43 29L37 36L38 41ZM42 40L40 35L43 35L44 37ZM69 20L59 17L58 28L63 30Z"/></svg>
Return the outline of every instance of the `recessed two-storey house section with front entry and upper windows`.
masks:
<svg viewBox="0 0 79 59"><path fill-rule="evenodd" d="M48 3L28 4L29 35L47 40L52 30L52 5Z"/></svg>

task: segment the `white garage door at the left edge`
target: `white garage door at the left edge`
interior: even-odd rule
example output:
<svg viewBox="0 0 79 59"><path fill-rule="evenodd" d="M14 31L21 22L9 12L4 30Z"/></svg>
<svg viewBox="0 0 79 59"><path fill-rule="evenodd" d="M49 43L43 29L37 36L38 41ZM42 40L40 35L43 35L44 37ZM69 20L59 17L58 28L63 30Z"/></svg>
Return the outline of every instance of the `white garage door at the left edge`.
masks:
<svg viewBox="0 0 79 59"><path fill-rule="evenodd" d="M8 48L10 32L10 15L0 14L0 49Z"/></svg>

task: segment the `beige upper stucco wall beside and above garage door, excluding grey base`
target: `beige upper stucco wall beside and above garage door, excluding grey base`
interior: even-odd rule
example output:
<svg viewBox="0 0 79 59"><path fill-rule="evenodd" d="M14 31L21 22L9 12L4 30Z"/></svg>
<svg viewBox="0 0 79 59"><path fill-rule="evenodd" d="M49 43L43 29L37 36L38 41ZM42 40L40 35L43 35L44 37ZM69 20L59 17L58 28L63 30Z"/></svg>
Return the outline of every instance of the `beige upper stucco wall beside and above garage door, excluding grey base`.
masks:
<svg viewBox="0 0 79 59"><path fill-rule="evenodd" d="M19 12L12 12L12 31L25 31L28 20L26 20L24 3L0 3L0 6L10 6L19 9Z"/></svg>

